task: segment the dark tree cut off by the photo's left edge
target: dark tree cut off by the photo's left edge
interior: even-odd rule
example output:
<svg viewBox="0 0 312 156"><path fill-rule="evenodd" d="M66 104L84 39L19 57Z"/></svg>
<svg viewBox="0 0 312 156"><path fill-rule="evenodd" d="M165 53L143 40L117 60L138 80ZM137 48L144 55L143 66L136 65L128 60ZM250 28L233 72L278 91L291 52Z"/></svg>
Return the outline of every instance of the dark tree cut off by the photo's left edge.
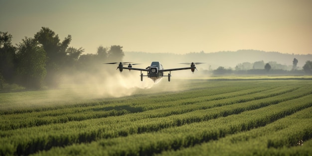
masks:
<svg viewBox="0 0 312 156"><path fill-rule="evenodd" d="M12 83L15 76L15 51L12 35L0 31L0 75L2 82Z"/></svg>

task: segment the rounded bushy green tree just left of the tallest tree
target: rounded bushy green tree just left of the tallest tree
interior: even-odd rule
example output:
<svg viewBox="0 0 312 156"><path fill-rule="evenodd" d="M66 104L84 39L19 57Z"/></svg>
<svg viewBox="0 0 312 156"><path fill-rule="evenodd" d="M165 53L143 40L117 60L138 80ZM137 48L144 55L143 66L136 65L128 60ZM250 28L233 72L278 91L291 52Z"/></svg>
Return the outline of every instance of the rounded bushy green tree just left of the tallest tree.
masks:
<svg viewBox="0 0 312 156"><path fill-rule="evenodd" d="M17 72L20 83L26 88L40 88L46 76L46 54L42 46L34 38L22 39L17 45Z"/></svg>

